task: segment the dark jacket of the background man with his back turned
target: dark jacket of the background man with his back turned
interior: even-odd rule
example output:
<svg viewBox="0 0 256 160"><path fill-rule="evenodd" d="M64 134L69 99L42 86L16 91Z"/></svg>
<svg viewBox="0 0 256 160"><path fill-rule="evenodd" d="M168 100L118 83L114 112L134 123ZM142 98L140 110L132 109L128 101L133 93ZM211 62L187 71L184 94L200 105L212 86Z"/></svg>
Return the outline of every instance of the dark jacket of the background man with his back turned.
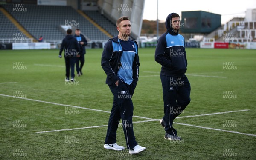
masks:
<svg viewBox="0 0 256 160"><path fill-rule="evenodd" d="M71 34L67 34L66 37L62 40L59 55L61 55L63 49L65 49L65 57L77 57L80 55L78 42L76 38Z"/></svg>

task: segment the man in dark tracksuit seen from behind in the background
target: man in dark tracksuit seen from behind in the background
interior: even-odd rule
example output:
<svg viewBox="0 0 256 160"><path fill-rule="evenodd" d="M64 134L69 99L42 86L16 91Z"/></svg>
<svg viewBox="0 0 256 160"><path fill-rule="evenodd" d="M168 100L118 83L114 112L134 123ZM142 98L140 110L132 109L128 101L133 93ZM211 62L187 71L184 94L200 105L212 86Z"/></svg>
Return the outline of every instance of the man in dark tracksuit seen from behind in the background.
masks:
<svg viewBox="0 0 256 160"><path fill-rule="evenodd" d="M75 77L75 63L77 57L79 57L79 46L77 43L76 38L71 35L72 30L67 29L67 35L62 40L61 48L59 52L59 57L61 58L61 53L64 49L64 57L65 57L65 64L66 64L66 79L65 81L69 81L70 76L70 69L71 69L71 81L74 81Z"/></svg>

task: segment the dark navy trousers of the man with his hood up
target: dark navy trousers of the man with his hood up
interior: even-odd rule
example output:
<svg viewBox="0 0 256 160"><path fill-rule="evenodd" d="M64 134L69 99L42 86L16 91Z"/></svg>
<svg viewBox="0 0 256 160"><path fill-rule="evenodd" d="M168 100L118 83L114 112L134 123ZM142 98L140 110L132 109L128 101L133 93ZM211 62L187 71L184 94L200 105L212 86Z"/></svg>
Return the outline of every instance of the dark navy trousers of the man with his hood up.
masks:
<svg viewBox="0 0 256 160"><path fill-rule="evenodd" d="M190 102L190 83L186 75L183 77L170 77L160 75L163 87L163 105L165 131L170 135L177 135L173 128L173 120L179 116Z"/></svg>

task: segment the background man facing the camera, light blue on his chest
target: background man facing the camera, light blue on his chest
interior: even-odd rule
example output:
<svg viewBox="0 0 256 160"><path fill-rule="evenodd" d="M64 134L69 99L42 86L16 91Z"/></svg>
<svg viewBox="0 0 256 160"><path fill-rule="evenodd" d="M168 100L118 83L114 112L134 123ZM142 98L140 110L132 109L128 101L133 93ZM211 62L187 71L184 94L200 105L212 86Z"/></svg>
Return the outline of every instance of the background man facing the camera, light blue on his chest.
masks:
<svg viewBox="0 0 256 160"><path fill-rule="evenodd" d="M84 56L86 54L85 46L87 45L87 40L84 37L84 35L81 34L79 29L76 29L75 31L75 37L79 44L79 49L80 49L80 57L78 57L76 60L76 72L77 72L77 76L81 76L83 75L82 68L84 66ZM79 61L81 63L80 66L79 66Z"/></svg>

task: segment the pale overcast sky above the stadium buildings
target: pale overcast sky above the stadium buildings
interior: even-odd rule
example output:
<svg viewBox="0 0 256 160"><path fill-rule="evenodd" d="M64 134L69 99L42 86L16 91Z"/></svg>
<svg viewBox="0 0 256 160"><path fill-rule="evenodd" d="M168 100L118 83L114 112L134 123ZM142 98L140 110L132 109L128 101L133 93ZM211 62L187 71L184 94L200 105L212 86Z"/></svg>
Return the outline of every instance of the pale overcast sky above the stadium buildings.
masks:
<svg viewBox="0 0 256 160"><path fill-rule="evenodd" d="M256 0L158 0L158 19L166 20L168 14L181 11L209 11L221 14L221 24L233 17L245 17L247 8L256 8ZM157 0L145 0L143 19L157 20Z"/></svg>

